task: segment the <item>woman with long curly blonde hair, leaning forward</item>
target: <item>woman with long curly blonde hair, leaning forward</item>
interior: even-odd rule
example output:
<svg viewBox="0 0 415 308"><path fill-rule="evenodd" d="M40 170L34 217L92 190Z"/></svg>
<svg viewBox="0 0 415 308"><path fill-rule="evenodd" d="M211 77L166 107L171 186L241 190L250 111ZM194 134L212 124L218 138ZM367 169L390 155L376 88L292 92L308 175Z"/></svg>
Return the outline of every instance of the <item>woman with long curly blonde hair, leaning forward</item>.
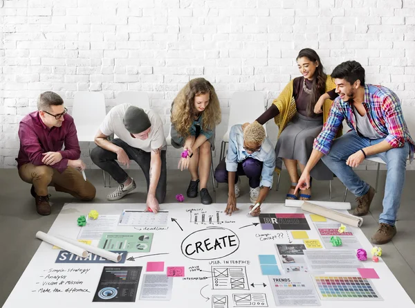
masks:
<svg viewBox="0 0 415 308"><path fill-rule="evenodd" d="M187 188L187 197L196 198L199 191L201 203L212 203L207 189L211 147L214 150L215 127L221 123L221 107L214 87L204 78L187 82L172 104L172 145L183 147L178 163L181 170L189 169L192 179Z"/></svg>

